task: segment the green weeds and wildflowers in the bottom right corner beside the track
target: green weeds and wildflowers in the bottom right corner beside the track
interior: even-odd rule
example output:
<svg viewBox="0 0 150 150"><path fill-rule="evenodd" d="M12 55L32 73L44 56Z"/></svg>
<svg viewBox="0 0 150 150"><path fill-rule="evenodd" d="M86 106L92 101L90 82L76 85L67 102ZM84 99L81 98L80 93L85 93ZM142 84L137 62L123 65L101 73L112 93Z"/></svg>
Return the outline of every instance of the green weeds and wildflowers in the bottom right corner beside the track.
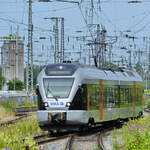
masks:
<svg viewBox="0 0 150 150"><path fill-rule="evenodd" d="M130 120L113 136L115 150L150 150L150 118ZM121 141L121 142L120 142Z"/></svg>

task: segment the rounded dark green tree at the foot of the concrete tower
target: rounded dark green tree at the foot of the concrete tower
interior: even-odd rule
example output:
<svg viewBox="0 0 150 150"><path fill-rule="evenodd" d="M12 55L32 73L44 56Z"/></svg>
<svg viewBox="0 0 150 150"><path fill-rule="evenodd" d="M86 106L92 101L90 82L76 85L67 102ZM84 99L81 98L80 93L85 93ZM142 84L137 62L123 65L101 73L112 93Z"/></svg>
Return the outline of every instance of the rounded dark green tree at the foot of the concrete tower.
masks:
<svg viewBox="0 0 150 150"><path fill-rule="evenodd" d="M24 89L24 82L22 82L17 78L9 80L7 85L8 85L8 90L22 91Z"/></svg>

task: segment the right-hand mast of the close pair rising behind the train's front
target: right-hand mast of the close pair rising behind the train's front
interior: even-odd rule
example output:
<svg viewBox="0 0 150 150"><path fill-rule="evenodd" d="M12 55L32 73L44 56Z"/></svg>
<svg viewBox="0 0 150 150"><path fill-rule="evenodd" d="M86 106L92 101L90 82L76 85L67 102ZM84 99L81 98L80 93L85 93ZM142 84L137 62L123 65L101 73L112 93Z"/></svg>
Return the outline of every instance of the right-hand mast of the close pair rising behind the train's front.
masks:
<svg viewBox="0 0 150 150"><path fill-rule="evenodd" d="M61 18L61 57L60 62L64 61L64 18Z"/></svg>

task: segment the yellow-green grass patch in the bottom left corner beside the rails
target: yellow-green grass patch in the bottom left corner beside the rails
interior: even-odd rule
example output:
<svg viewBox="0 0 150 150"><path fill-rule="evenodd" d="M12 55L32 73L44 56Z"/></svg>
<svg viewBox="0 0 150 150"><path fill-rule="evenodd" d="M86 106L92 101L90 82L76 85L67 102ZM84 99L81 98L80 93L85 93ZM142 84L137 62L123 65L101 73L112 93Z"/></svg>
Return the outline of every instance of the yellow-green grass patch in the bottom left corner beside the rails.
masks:
<svg viewBox="0 0 150 150"><path fill-rule="evenodd" d="M35 116L32 116L16 124L0 128L0 149L11 148L11 150L25 150L28 145L30 150L37 150L33 134L42 133ZM25 137L23 142L22 138Z"/></svg>

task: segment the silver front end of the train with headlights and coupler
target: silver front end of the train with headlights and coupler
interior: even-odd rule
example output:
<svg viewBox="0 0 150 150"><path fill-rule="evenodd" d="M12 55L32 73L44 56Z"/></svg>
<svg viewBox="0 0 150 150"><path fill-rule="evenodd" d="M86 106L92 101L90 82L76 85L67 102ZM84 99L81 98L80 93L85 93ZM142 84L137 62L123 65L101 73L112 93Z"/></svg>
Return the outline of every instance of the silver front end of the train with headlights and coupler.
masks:
<svg viewBox="0 0 150 150"><path fill-rule="evenodd" d="M58 130L82 123L85 111L69 110L79 89L77 65L50 64L38 77L38 123L43 130Z"/></svg>

